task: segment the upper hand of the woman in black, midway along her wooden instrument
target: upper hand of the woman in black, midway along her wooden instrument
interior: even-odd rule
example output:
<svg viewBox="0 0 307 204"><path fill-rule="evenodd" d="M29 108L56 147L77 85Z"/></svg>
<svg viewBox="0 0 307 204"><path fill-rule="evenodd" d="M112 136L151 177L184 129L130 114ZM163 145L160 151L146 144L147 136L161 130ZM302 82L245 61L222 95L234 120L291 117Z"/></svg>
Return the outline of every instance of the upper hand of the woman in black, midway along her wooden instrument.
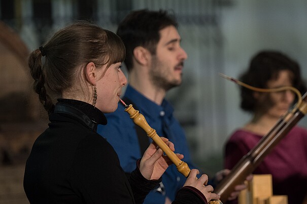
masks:
<svg viewBox="0 0 307 204"><path fill-rule="evenodd" d="M167 144L170 150L175 151L172 142L168 141L167 138L160 138ZM183 158L183 154L176 155L179 159ZM171 164L173 164L172 161L166 155L163 155L162 149L155 142L152 142L141 159L140 172L148 180L157 180Z"/></svg>

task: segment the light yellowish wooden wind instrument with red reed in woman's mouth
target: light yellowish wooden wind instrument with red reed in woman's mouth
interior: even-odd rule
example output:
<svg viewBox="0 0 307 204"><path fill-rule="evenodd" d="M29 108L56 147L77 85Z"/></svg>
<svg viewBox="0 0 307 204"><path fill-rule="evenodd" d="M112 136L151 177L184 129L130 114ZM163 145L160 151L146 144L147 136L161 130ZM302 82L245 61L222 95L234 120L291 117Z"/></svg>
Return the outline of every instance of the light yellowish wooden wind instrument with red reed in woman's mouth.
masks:
<svg viewBox="0 0 307 204"><path fill-rule="evenodd" d="M177 170L185 177L188 177L191 171L188 164L178 158L178 156L172 150L170 150L165 142L163 142L163 140L158 136L156 130L148 125L144 115L139 113L139 110L135 110L132 104L126 105L123 100L120 99L120 101L125 106L125 111L129 113L130 118L133 120L134 124L140 126L146 132L147 136L150 137L162 149L167 157L176 165ZM209 203L222 204L220 200L211 200Z"/></svg>

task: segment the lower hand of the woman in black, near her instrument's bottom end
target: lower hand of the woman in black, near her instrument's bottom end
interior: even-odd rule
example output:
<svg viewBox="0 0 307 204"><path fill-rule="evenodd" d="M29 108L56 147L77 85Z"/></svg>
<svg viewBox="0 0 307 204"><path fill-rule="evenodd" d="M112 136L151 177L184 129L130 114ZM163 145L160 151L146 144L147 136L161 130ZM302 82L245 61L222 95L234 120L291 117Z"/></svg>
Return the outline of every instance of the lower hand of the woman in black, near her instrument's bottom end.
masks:
<svg viewBox="0 0 307 204"><path fill-rule="evenodd" d="M211 185L206 186L208 183L208 176L203 174L197 179L197 174L199 174L199 171L197 169L192 169L183 186L192 186L198 189L206 197L208 202L210 200L220 199L218 194L213 193L213 187Z"/></svg>

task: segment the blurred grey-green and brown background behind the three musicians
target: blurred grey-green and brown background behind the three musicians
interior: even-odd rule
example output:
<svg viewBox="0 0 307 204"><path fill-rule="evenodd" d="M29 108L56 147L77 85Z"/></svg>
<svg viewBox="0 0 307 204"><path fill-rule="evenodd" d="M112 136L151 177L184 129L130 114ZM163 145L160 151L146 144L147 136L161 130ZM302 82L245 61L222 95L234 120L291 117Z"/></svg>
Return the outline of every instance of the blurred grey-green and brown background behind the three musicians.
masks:
<svg viewBox="0 0 307 204"><path fill-rule="evenodd" d="M74 20L91 20L116 32L129 11L144 8L171 10L179 22L188 59L183 84L167 98L187 133L193 160L210 176L222 169L227 137L250 117L240 110L237 85L218 73L238 77L256 52L276 49L297 60L307 78L304 0L0 0L0 203L17 198L27 203L25 158L47 125L31 92L27 54ZM307 128L307 119L299 125ZM15 173L8 169L14 165L20 168ZM10 173L14 184L5 180Z"/></svg>

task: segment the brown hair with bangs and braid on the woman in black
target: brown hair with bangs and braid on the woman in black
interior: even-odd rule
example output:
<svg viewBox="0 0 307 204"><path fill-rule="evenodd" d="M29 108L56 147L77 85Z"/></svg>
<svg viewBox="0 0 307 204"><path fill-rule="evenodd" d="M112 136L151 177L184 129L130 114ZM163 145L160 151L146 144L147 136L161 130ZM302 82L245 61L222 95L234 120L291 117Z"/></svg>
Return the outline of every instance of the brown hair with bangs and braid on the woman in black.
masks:
<svg viewBox="0 0 307 204"><path fill-rule="evenodd" d="M42 54L45 63L42 65ZM125 47L115 33L97 25L79 21L57 31L41 49L29 56L31 76L35 79L33 88L41 103L53 112L53 95L61 95L72 87L77 74L93 62L97 68L107 64L107 68L125 57Z"/></svg>

